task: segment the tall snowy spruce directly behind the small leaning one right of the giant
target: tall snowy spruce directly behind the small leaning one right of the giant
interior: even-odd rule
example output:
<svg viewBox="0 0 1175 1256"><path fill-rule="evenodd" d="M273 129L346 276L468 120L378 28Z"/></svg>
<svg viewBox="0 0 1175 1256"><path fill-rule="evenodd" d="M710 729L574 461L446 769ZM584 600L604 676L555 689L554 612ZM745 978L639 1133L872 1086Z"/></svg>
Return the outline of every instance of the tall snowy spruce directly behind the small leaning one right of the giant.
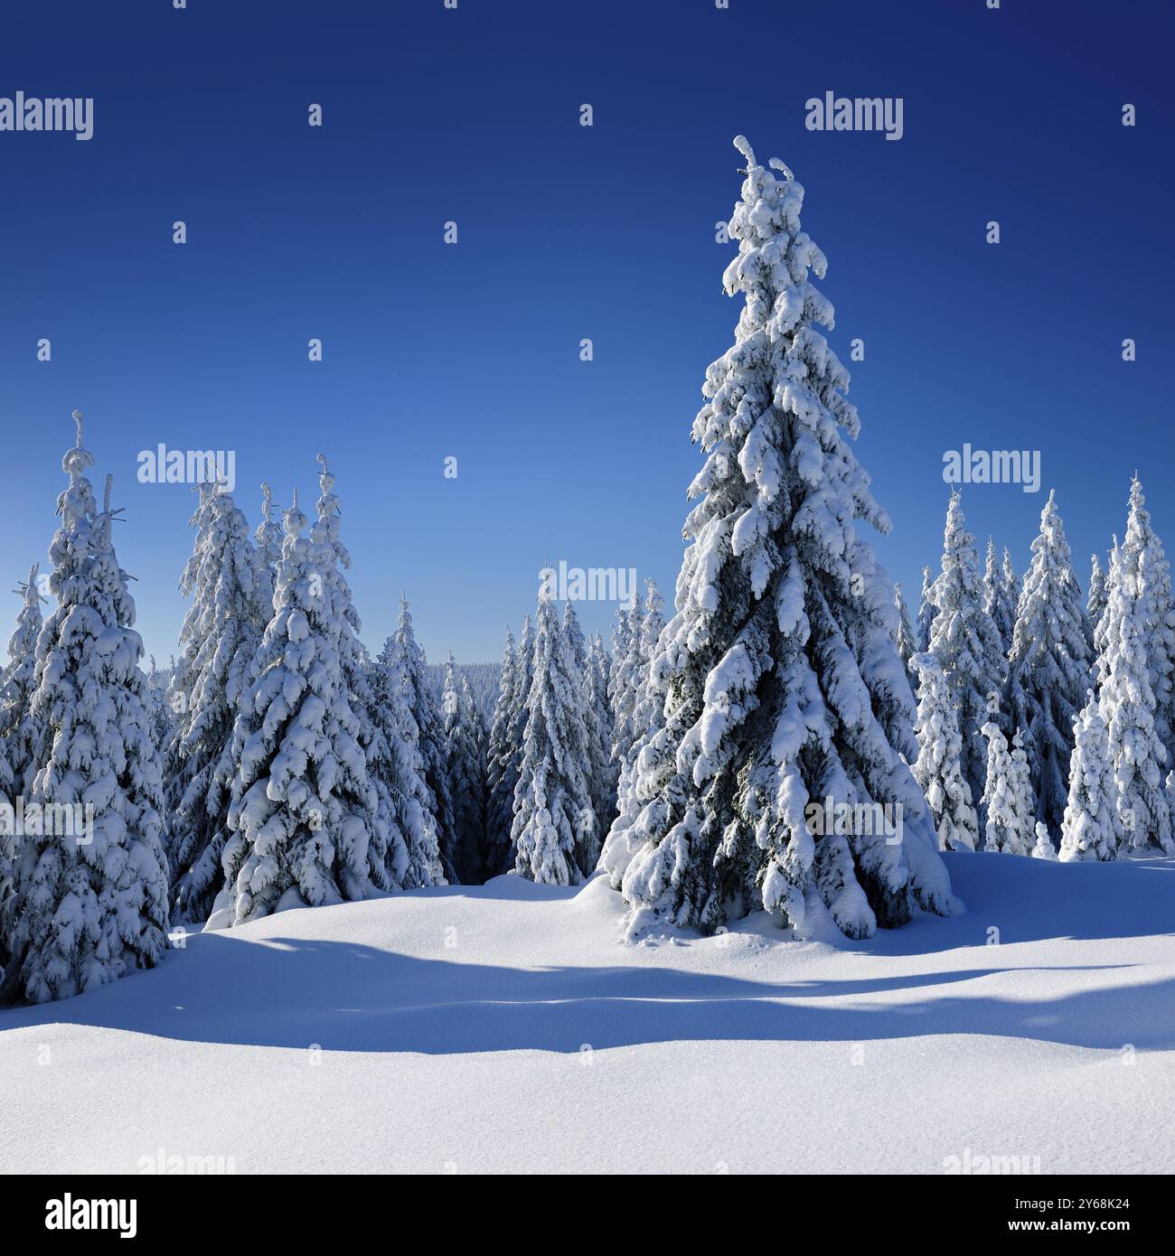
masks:
<svg viewBox="0 0 1175 1256"><path fill-rule="evenodd" d="M983 608L975 538L964 526L958 492L950 496L943 539L943 569L934 584L937 608L930 628L930 649L939 659L963 736L963 775L971 798L986 777L979 732L988 720L1003 727L1000 695L1007 679L1003 642Z"/></svg>

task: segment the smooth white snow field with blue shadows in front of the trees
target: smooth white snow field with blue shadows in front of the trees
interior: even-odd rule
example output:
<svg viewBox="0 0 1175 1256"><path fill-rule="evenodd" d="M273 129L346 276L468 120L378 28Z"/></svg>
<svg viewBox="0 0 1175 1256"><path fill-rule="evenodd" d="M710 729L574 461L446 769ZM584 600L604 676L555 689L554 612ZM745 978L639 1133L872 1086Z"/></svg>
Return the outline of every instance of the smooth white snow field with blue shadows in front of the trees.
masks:
<svg viewBox="0 0 1175 1256"><path fill-rule="evenodd" d="M1175 860L945 858L867 942L625 945L598 877L195 934L0 1011L0 1169L1175 1172Z"/></svg>

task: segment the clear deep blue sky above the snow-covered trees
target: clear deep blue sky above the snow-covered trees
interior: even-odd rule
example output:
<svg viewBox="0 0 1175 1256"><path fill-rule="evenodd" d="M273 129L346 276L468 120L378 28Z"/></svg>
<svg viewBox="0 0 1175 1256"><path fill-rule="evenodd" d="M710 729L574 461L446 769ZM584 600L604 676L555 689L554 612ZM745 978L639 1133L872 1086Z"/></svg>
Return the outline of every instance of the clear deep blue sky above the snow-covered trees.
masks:
<svg viewBox="0 0 1175 1256"><path fill-rule="evenodd" d="M738 132L804 183L831 342L866 343L858 452L911 597L966 441L1041 450L1042 494L964 491L1018 569L1056 487L1085 583L1136 467L1175 548L1172 34L1170 4L1129 0L8 6L0 95L96 113L88 143L0 133L6 579L44 559L80 407L161 661L194 499L136 481L158 442L235 450L251 522L264 479L313 501L324 450L374 648L406 589L430 657L496 658L560 559L671 599L690 423L738 317L714 241ZM806 131L826 90L902 97L904 138ZM581 609L594 631L613 608Z"/></svg>

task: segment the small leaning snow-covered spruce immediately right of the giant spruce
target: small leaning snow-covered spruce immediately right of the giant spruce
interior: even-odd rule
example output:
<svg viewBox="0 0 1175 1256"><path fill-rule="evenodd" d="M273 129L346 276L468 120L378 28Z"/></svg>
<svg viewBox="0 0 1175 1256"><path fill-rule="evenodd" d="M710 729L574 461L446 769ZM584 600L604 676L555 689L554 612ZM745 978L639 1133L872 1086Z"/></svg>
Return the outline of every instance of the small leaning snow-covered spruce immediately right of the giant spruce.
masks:
<svg viewBox="0 0 1175 1256"><path fill-rule="evenodd" d="M974 850L979 845L979 820L971 789L963 777L963 739L951 706L946 678L929 651L915 654L919 677L917 720L914 731L919 754L914 779L921 785L939 834L940 850Z"/></svg>

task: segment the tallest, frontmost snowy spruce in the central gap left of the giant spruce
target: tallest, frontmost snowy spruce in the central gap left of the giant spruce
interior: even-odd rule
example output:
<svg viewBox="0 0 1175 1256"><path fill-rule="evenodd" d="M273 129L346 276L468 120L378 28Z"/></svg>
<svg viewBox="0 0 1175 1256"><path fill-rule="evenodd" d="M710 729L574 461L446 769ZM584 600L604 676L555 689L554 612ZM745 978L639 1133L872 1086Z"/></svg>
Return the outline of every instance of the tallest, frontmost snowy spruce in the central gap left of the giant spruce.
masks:
<svg viewBox="0 0 1175 1256"><path fill-rule="evenodd" d="M530 880L578 885L599 852L583 765L582 676L554 603L539 595L534 672L527 695L523 757L514 790L514 870Z"/></svg>

